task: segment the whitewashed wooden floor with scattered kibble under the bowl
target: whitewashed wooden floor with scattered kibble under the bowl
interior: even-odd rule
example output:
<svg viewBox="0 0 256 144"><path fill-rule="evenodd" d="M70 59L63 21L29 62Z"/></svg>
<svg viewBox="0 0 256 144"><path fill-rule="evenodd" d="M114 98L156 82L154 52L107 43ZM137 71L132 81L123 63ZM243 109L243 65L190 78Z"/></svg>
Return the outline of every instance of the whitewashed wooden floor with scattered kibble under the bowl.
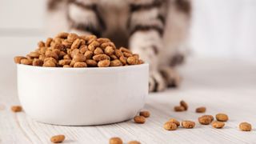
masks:
<svg viewBox="0 0 256 144"><path fill-rule="evenodd" d="M50 143L54 134L65 134L65 143L107 143L111 137L124 142L138 140L142 143L255 143L256 130L238 130L240 122L256 126L256 62L234 59L191 59L181 68L182 86L150 94L145 110L151 117L143 125L132 121L106 126L52 126L28 118L25 113L14 114L10 106L18 104L14 71L6 74L0 83L0 143ZM189 104L186 112L174 112L180 100ZM206 114L226 113L230 120L221 130L198 123L201 114L194 112L206 106ZM163 130L169 118L193 120L194 129Z"/></svg>

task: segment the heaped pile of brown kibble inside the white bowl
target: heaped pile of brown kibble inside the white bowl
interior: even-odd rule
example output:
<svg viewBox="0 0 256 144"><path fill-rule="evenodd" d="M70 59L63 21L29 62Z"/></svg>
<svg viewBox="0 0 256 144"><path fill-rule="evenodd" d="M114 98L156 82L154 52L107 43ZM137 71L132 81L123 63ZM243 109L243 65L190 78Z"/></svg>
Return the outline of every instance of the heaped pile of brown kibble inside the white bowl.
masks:
<svg viewBox="0 0 256 144"><path fill-rule="evenodd" d="M95 35L59 33L46 42L38 42L38 49L26 57L17 56L18 64L45 67L107 67L142 64L138 54L116 48L108 38Z"/></svg>

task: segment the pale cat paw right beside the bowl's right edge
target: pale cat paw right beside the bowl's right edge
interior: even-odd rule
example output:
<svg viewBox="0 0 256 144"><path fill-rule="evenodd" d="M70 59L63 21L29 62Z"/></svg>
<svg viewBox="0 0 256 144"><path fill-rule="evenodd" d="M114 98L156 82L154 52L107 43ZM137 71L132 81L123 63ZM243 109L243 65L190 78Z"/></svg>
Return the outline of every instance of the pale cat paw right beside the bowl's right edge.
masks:
<svg viewBox="0 0 256 144"><path fill-rule="evenodd" d="M158 92L166 89L166 82L162 78L162 74L158 71L150 74L150 92Z"/></svg>

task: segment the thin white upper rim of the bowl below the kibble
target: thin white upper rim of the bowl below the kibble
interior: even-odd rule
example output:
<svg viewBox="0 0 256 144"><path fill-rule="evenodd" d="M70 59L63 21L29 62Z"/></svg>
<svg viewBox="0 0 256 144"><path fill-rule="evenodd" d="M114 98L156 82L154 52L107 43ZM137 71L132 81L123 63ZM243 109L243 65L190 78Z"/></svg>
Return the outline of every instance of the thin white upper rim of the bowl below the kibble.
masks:
<svg viewBox="0 0 256 144"><path fill-rule="evenodd" d="M130 66L109 66L109 67L85 67L85 68L80 68L80 67L43 67L43 66L30 66L30 65L24 65L24 64L16 64L18 68L26 68L26 69L33 69L33 70L59 70L59 71L65 71L65 70L81 70L81 71L90 71L90 70L134 70L142 67L148 67L148 63L143 63L139 65L130 65Z"/></svg>

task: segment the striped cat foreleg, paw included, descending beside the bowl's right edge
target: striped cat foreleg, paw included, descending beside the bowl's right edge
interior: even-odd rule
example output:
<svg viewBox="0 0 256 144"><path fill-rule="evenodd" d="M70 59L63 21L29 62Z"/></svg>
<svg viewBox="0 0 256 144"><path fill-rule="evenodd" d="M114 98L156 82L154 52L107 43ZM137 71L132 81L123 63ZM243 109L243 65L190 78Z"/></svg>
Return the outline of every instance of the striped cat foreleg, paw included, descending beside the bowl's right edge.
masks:
<svg viewBox="0 0 256 144"><path fill-rule="evenodd" d="M166 83L158 68L158 54L163 49L167 5L164 0L134 0L130 3L130 49L150 63L150 91L165 90Z"/></svg>

